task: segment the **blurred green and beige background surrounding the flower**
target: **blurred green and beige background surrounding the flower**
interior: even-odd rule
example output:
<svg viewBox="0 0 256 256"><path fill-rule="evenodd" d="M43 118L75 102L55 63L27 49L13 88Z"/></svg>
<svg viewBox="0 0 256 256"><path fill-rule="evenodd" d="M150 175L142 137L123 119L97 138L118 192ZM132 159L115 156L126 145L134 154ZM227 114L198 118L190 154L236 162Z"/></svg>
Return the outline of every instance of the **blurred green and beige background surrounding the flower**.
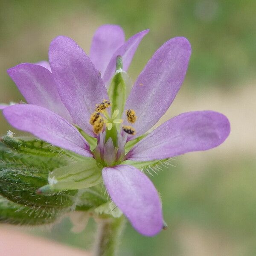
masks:
<svg viewBox="0 0 256 256"><path fill-rule="evenodd" d="M126 38L150 28L131 64L133 81L169 38L192 44L185 82L160 122L184 111L228 116L231 134L218 148L177 157L152 180L162 195L168 230L143 237L127 225L122 256L256 255L255 0L0 0L0 102L22 96L6 70L47 60L57 35L86 52L95 29L121 25ZM12 129L0 116L0 134ZM13 130L13 129L12 129ZM17 133L18 134L18 133ZM95 224L70 233L68 218L37 235L90 250Z"/></svg>

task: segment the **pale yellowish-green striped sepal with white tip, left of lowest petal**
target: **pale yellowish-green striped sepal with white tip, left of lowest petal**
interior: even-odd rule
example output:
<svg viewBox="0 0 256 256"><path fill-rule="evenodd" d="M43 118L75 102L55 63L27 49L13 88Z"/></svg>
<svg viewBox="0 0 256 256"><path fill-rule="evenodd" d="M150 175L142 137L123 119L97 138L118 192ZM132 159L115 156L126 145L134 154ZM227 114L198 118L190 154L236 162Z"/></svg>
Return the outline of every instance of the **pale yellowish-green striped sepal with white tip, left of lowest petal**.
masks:
<svg viewBox="0 0 256 256"><path fill-rule="evenodd" d="M49 173L48 182L52 191L66 189L84 189L102 182L102 168L94 158L70 163ZM45 188L44 188L45 189Z"/></svg>

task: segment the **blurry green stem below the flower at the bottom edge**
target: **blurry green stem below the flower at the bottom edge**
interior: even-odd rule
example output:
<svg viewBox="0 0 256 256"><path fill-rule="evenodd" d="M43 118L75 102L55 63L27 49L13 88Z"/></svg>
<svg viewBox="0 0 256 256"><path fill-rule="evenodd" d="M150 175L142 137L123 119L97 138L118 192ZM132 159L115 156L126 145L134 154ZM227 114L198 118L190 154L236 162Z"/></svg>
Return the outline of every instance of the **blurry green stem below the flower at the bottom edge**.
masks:
<svg viewBox="0 0 256 256"><path fill-rule="evenodd" d="M115 256L125 226L125 218L102 219L98 223L98 234L93 256Z"/></svg>

